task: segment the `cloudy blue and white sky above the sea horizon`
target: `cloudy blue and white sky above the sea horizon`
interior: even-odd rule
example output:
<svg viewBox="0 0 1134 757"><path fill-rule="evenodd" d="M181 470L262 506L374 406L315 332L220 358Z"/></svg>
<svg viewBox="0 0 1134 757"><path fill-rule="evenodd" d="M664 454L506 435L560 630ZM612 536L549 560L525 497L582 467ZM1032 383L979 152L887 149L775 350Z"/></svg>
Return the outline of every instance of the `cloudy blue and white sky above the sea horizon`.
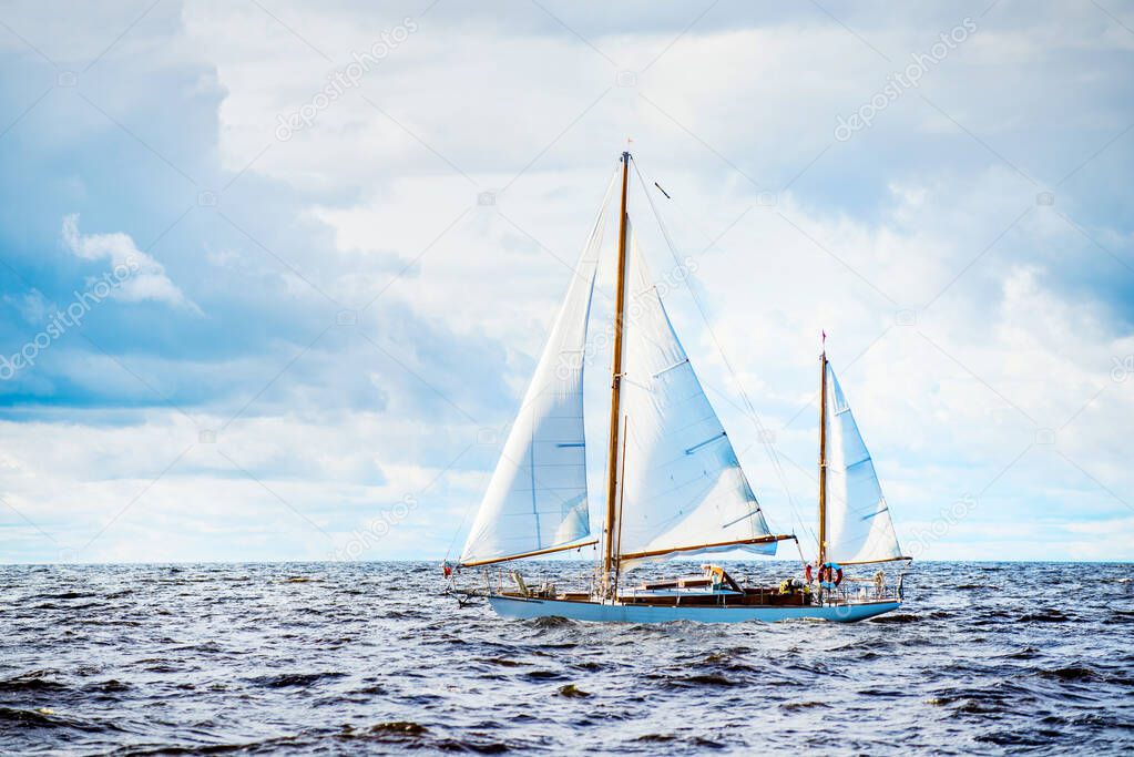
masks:
<svg viewBox="0 0 1134 757"><path fill-rule="evenodd" d="M1119 0L2 2L0 561L459 551L627 145L775 530L826 331L907 553L1134 560L1132 74Z"/></svg>

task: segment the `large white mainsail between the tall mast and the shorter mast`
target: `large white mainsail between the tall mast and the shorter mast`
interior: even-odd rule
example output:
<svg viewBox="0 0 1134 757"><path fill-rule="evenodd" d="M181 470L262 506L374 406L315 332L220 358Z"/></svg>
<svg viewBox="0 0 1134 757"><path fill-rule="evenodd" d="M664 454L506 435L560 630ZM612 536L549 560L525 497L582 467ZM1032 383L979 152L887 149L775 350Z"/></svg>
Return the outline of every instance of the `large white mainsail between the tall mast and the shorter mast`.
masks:
<svg viewBox="0 0 1134 757"><path fill-rule="evenodd" d="M736 550L775 554L776 542L688 548L765 536L768 524L633 237L631 243L621 394L626 452L616 533L620 554L658 554L621 564Z"/></svg>

